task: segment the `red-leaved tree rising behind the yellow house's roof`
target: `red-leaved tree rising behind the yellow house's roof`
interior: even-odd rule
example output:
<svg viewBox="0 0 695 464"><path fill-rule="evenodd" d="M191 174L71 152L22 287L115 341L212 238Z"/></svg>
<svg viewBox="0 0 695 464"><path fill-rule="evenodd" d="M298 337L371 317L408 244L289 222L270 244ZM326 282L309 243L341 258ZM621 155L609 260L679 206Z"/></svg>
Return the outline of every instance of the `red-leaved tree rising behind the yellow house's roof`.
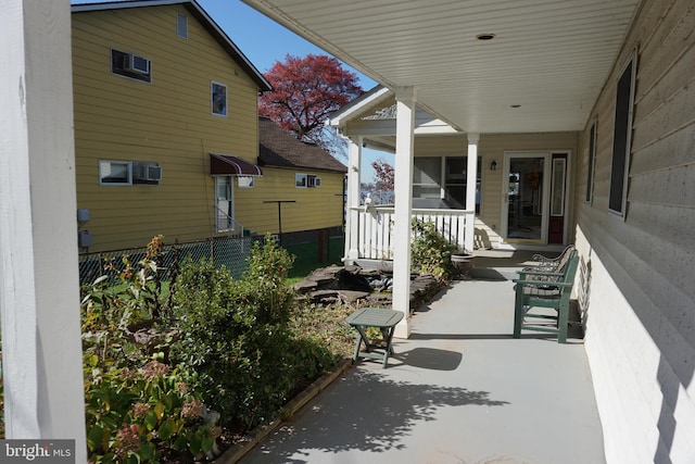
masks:
<svg viewBox="0 0 695 464"><path fill-rule="evenodd" d="M324 122L331 112L363 93L357 75L331 57L288 54L264 77L273 90L261 95L258 113L291 130L298 139L313 141L336 154L334 131L328 130Z"/></svg>

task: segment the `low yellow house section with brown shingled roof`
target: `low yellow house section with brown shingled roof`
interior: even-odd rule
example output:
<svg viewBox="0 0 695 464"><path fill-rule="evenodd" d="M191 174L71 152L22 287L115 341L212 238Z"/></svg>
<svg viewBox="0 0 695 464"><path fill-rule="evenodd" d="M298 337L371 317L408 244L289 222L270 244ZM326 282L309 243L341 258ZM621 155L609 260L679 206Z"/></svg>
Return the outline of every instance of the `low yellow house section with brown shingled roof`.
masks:
<svg viewBox="0 0 695 464"><path fill-rule="evenodd" d="M286 238L320 229L342 233L348 168L323 148L298 140L265 117L258 118L258 143L263 177L257 188L241 189L237 198L244 205L238 215L244 227L276 234L281 218Z"/></svg>

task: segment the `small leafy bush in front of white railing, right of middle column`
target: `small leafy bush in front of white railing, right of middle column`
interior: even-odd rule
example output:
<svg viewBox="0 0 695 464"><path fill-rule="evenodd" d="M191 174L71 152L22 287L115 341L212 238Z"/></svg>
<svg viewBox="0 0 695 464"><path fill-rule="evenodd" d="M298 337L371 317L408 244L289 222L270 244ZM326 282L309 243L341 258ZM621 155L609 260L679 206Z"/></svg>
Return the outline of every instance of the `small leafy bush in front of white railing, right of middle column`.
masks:
<svg viewBox="0 0 695 464"><path fill-rule="evenodd" d="M413 268L420 274L446 277L452 274L451 255L456 247L437 231L431 222L413 218L410 259Z"/></svg>

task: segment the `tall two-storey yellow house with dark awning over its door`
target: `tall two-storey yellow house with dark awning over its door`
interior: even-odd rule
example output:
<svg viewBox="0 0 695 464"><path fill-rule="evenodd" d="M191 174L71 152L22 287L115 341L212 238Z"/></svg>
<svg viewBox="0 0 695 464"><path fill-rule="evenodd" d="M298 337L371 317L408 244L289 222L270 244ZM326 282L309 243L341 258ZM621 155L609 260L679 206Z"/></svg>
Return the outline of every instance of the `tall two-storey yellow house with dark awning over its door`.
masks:
<svg viewBox="0 0 695 464"><path fill-rule="evenodd" d="M261 73L194 1L72 11L81 250L248 228L239 218L253 223L258 206L243 201L263 174L257 95L270 88Z"/></svg>

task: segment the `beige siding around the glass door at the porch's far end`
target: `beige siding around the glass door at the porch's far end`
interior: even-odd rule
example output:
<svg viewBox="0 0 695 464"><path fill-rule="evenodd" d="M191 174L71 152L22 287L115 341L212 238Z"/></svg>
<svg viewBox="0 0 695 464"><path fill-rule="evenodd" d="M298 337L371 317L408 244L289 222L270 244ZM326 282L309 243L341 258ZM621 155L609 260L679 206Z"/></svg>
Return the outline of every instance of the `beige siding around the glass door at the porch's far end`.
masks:
<svg viewBox="0 0 695 464"><path fill-rule="evenodd" d="M578 150L577 133L542 133L542 134L481 134L478 143L478 155L481 156L482 195L480 215L476 218L477 236L484 236L490 244L497 247L501 242L500 223L502 221L502 196L505 192L503 179L503 160L506 151L568 151L570 170ZM416 137L416 156L465 156L468 151L466 136L451 137ZM497 162L497 170L490 171L490 163ZM572 199L568 199L568 204ZM566 217L571 224L572 212ZM570 237L571 240L571 237Z"/></svg>

